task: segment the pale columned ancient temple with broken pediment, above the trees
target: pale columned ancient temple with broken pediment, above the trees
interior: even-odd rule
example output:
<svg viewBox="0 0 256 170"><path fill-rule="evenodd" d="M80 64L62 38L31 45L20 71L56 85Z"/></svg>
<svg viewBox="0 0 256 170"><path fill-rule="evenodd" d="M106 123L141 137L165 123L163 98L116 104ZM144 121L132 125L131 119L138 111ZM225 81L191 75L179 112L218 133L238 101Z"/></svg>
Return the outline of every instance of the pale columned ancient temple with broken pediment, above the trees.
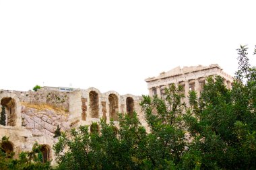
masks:
<svg viewBox="0 0 256 170"><path fill-rule="evenodd" d="M162 96L164 94L164 88L172 83L183 85L186 97L191 90L197 91L197 95L200 96L203 85L205 84L205 78L215 77L216 75L223 77L224 84L228 89L231 88L233 77L224 73L220 66L216 64L210 66L176 67L170 71L160 73L158 77L150 77L145 81L148 83L150 96Z"/></svg>

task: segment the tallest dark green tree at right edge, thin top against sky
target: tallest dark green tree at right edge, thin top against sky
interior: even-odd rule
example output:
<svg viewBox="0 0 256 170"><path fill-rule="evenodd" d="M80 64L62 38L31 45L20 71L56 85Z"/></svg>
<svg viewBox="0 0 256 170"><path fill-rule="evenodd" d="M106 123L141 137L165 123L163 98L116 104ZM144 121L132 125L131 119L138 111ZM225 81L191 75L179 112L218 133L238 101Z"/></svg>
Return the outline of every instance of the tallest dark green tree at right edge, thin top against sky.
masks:
<svg viewBox="0 0 256 170"><path fill-rule="evenodd" d="M193 142L183 169L256 169L256 69L247 46L238 48L232 89L222 77L207 79L199 99L190 93L185 122Z"/></svg>

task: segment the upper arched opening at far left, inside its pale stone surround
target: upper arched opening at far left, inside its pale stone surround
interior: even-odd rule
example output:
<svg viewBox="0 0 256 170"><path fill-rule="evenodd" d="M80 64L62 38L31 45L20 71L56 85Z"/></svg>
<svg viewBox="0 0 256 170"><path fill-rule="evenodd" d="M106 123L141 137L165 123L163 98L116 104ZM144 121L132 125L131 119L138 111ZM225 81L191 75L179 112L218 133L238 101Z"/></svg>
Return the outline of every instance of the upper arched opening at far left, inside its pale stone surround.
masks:
<svg viewBox="0 0 256 170"><path fill-rule="evenodd" d="M3 107L2 107L3 106ZM16 102L11 97L3 97L1 99L1 112L3 109L5 110L5 125L7 126L15 126L16 125Z"/></svg>

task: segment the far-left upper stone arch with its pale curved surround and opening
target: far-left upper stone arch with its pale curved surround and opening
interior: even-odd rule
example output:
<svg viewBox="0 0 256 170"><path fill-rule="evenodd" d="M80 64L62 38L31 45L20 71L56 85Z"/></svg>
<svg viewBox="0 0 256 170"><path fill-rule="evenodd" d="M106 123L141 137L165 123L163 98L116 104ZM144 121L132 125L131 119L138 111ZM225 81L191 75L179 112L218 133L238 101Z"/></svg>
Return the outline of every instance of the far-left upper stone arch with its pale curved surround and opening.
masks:
<svg viewBox="0 0 256 170"><path fill-rule="evenodd" d="M13 93L0 94L0 104L5 107L6 125L22 126L20 100ZM0 108L1 110L1 108Z"/></svg>

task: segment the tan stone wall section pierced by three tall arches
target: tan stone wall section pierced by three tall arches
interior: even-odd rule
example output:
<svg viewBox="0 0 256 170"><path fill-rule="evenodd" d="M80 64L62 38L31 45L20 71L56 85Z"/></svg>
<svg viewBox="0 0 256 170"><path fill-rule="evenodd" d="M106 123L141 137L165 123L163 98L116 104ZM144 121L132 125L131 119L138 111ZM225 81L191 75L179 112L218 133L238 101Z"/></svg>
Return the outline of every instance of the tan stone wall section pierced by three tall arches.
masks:
<svg viewBox="0 0 256 170"><path fill-rule="evenodd" d="M137 112L141 122L145 122L143 113L139 103L140 96L135 95L120 95L116 91L107 91L101 93L98 89L90 87L88 89L79 89L81 91L81 103L79 125L90 125L92 122L100 122L100 118L106 119L107 122L114 120L118 126L118 113Z"/></svg>

